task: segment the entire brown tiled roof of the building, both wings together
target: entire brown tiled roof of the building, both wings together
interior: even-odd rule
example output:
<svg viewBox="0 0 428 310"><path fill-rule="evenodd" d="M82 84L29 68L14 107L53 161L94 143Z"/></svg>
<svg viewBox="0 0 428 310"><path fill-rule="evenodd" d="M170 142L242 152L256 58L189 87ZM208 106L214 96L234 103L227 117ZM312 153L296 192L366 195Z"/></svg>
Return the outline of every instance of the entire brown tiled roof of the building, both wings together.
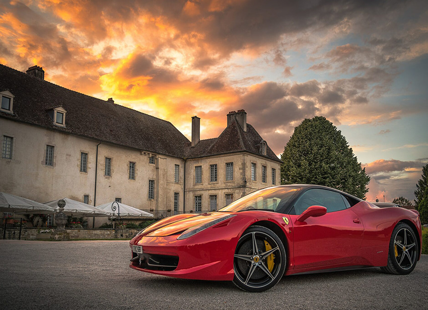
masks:
<svg viewBox="0 0 428 310"><path fill-rule="evenodd" d="M37 79L0 64L0 91L14 96L14 114L0 117L178 158L198 158L247 151L260 156L262 137L247 124L247 132L233 120L217 138L191 142L170 122L112 102L90 97ZM67 111L65 127L55 126L47 111ZM266 158L281 162L266 147Z"/></svg>

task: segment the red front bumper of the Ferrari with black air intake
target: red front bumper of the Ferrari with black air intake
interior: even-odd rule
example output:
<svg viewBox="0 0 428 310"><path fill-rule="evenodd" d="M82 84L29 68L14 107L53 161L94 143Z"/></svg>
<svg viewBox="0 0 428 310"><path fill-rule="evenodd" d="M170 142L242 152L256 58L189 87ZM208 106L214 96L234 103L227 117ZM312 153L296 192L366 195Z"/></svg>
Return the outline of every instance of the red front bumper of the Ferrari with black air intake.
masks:
<svg viewBox="0 0 428 310"><path fill-rule="evenodd" d="M129 267L176 278L231 281L238 238L219 239L219 236L201 235L185 240L177 240L176 235L135 236L129 243L130 248L142 246L142 253L131 252Z"/></svg>

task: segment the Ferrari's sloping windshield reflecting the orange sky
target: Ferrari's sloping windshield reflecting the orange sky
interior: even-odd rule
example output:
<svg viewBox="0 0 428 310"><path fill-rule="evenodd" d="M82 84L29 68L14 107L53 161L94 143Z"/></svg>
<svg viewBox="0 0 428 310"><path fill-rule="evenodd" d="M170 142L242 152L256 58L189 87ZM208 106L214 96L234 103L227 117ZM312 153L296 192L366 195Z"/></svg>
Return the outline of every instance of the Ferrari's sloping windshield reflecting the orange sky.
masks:
<svg viewBox="0 0 428 310"><path fill-rule="evenodd" d="M282 208L299 191L299 187L268 187L248 194L224 208L220 212L240 212L245 210L275 211Z"/></svg>

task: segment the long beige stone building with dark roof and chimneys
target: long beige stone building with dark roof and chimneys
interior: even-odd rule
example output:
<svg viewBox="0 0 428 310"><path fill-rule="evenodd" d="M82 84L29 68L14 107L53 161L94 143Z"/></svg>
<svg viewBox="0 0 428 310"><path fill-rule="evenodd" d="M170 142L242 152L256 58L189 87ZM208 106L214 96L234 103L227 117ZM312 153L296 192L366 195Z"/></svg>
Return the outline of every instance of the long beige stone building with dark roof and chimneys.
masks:
<svg viewBox="0 0 428 310"><path fill-rule="evenodd" d="M1 192L39 202L117 200L167 216L279 184L281 162L244 110L205 140L192 117L189 141L168 121L44 81L41 67L1 64L0 100Z"/></svg>

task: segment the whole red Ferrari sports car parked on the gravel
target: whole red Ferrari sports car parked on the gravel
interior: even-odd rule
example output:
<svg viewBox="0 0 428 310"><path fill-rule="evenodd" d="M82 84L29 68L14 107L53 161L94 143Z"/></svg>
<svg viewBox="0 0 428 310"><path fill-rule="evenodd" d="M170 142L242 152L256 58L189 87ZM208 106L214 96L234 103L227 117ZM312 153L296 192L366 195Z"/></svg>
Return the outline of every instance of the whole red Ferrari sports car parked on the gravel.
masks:
<svg viewBox="0 0 428 310"><path fill-rule="evenodd" d="M260 292L285 275L382 267L408 274L420 258L415 210L379 208L317 185L255 191L217 212L164 218L131 241L130 267Z"/></svg>

